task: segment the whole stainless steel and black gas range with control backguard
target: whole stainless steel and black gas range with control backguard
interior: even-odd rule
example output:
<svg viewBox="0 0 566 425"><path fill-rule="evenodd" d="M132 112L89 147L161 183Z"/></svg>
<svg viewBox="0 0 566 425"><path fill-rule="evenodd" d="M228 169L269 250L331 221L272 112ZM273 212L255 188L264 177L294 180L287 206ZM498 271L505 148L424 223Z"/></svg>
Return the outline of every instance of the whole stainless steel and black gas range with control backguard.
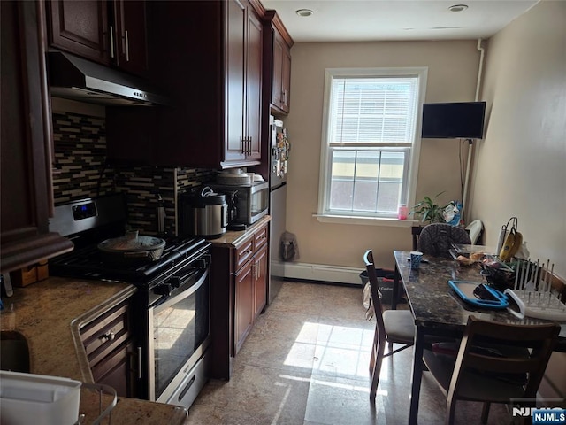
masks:
<svg viewBox="0 0 566 425"><path fill-rule="evenodd" d="M121 195L59 205L50 229L75 249L50 259L50 274L129 282L133 298L136 393L129 397L189 407L207 379L210 345L210 245L202 237L165 239L155 261L108 261L97 248L123 236L126 203Z"/></svg>

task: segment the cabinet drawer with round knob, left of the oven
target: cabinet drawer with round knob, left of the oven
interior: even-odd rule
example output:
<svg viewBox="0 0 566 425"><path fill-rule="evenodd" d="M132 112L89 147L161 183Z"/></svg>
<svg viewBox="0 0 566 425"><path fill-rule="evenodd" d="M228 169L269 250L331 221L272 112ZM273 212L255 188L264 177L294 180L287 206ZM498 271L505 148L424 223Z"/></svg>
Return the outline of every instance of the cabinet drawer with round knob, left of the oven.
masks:
<svg viewBox="0 0 566 425"><path fill-rule="evenodd" d="M80 329L80 338L93 367L129 338L129 308L127 303L113 307L95 321Z"/></svg>

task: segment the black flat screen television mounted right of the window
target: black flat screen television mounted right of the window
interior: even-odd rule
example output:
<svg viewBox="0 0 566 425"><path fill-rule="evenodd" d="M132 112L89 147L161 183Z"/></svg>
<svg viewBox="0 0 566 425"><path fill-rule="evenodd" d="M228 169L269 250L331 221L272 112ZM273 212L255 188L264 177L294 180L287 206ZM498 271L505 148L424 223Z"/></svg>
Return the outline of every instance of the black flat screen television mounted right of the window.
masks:
<svg viewBox="0 0 566 425"><path fill-rule="evenodd" d="M424 139L481 139L486 102L423 104Z"/></svg>

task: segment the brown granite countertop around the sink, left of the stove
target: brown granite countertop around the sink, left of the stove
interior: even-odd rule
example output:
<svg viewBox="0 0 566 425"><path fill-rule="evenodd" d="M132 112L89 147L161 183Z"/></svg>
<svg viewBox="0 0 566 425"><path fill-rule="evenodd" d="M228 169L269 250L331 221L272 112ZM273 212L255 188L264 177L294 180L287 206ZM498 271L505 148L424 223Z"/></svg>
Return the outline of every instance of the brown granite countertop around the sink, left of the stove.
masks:
<svg viewBox="0 0 566 425"><path fill-rule="evenodd" d="M25 288L14 288L13 297L3 299L5 310L0 314L0 325L2 329L15 328L26 336L32 374L92 383L78 336L80 323L134 291L134 286L127 283L50 277ZM85 423L99 416L98 406L97 394L81 390L80 413L86 414ZM187 410L182 407L135 398L119 398L111 411L112 423L120 425L180 425L186 418Z"/></svg>

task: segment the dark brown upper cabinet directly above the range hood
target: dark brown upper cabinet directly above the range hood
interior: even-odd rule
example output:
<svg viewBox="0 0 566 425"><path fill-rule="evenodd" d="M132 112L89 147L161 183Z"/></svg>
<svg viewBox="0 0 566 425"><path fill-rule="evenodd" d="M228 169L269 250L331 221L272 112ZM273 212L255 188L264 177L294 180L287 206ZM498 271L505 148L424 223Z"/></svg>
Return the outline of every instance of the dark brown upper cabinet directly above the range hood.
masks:
<svg viewBox="0 0 566 425"><path fill-rule="evenodd" d="M140 75L148 71L146 2L54 0L50 45Z"/></svg>

